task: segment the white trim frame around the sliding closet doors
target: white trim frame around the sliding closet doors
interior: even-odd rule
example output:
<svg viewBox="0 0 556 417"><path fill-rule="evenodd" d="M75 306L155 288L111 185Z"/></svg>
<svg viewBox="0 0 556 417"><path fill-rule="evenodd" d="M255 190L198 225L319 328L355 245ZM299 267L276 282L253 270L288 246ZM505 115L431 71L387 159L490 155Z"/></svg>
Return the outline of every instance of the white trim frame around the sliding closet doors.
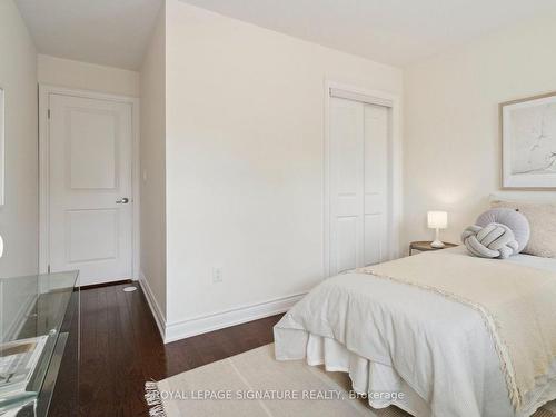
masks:
<svg viewBox="0 0 556 417"><path fill-rule="evenodd" d="M330 275L330 90L340 90L346 98L353 96L365 96L369 105L383 106L389 109L389 169L388 183L390 192L388 195L389 209L389 239L388 259L398 258L400 249L401 210L403 210L403 149L401 149L401 100L396 93L369 90L342 82L325 79L324 86L324 181L322 181L322 219L324 219L324 265L322 278Z"/></svg>

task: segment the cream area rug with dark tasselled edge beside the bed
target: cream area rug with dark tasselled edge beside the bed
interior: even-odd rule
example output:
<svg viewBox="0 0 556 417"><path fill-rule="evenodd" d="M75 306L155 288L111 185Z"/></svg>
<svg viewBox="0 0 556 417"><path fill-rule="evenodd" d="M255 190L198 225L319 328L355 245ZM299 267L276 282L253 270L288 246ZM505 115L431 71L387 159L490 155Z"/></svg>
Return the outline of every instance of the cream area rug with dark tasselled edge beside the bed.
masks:
<svg viewBox="0 0 556 417"><path fill-rule="evenodd" d="M146 393L151 417L410 417L394 406L374 409L355 398L345 373L275 360L274 345L146 383ZM556 417L553 407L533 417Z"/></svg>

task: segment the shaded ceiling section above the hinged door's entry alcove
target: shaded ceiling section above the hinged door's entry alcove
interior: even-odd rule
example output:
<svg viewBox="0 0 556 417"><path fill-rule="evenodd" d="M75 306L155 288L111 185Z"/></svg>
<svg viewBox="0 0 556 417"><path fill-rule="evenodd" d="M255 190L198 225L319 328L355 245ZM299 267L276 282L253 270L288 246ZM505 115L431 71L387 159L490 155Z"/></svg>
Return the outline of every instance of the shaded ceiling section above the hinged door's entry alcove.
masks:
<svg viewBox="0 0 556 417"><path fill-rule="evenodd" d="M137 70L162 0L16 0L39 53Z"/></svg>

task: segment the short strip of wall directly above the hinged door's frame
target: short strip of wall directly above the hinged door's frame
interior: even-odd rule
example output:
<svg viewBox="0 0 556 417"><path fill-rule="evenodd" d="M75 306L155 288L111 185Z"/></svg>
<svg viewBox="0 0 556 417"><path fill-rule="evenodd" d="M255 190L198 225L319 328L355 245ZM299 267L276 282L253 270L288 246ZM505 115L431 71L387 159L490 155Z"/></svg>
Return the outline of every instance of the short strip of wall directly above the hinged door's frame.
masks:
<svg viewBox="0 0 556 417"><path fill-rule="evenodd" d="M139 97L139 72L39 54L39 82L78 90Z"/></svg>

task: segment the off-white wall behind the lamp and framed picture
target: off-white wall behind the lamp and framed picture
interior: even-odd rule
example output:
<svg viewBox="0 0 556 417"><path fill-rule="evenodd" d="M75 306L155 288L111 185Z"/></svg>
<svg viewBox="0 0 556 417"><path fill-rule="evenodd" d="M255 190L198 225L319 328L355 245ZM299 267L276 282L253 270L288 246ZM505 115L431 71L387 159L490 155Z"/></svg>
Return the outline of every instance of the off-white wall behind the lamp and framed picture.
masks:
<svg viewBox="0 0 556 417"><path fill-rule="evenodd" d="M555 18L528 21L406 69L406 242L431 238L425 228L429 209L449 212L444 237L458 242L487 208L488 195L500 189L498 103L556 90Z"/></svg>

